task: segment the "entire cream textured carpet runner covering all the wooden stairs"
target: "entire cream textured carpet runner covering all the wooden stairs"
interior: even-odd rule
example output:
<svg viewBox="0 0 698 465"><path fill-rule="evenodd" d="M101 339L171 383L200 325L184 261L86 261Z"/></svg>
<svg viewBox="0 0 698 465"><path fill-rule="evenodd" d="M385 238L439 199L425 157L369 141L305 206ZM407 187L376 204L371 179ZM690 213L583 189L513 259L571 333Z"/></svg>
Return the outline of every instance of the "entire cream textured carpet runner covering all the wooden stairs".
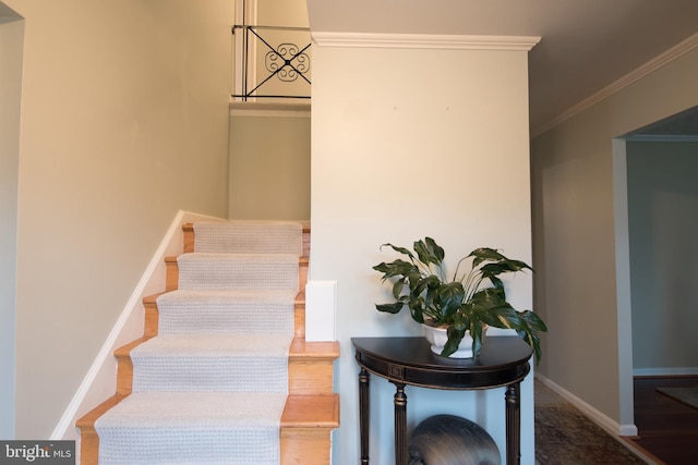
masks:
<svg viewBox="0 0 698 465"><path fill-rule="evenodd" d="M103 415L99 463L277 465L302 227L194 224L158 335L131 352L133 393Z"/></svg>

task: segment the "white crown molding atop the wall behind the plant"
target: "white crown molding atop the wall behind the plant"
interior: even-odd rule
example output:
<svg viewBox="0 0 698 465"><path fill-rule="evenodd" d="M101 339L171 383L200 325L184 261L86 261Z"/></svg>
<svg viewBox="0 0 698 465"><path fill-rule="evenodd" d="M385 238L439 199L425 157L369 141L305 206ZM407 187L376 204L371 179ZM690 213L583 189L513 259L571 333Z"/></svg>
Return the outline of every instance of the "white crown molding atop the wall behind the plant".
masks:
<svg viewBox="0 0 698 465"><path fill-rule="evenodd" d="M311 32L318 47L448 49L448 50L521 50L528 51L540 41L529 36L461 36L431 34L368 34Z"/></svg>

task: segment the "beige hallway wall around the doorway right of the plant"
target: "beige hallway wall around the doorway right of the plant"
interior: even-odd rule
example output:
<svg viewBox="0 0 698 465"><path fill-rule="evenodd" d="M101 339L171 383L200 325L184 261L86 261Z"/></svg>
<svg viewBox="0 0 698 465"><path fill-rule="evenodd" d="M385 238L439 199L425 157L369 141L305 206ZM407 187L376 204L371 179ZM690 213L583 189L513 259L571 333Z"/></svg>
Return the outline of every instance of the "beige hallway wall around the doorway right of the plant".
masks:
<svg viewBox="0 0 698 465"><path fill-rule="evenodd" d="M532 140L534 302L550 329L540 371L621 426L633 423L633 363L612 140L697 105L696 82L693 49Z"/></svg>

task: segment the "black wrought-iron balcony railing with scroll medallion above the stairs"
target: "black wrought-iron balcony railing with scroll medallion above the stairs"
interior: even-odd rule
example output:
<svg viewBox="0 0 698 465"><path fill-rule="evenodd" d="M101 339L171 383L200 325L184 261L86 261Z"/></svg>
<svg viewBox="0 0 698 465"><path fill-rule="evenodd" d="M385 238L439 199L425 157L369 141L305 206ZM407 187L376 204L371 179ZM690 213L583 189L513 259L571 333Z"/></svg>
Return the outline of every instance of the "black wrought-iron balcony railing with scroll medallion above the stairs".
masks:
<svg viewBox="0 0 698 465"><path fill-rule="evenodd" d="M310 29L232 26L236 101L310 98Z"/></svg>

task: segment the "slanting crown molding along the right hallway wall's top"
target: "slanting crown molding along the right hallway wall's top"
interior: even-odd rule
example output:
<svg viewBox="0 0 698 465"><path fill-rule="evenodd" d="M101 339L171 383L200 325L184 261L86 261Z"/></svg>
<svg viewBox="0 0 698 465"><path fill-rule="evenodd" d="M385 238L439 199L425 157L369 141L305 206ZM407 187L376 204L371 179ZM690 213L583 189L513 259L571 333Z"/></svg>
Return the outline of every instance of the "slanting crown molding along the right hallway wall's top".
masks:
<svg viewBox="0 0 698 465"><path fill-rule="evenodd" d="M613 94L621 91L622 89L629 86L630 84L636 83L642 77L646 77L648 74L659 70L660 68L666 65L667 63L671 63L672 61L684 56L685 53L688 53L696 47L698 47L698 33L694 34L693 36L677 44L676 46L670 48L663 53L654 57L652 60L637 68L635 71L631 71L630 73L626 74L625 76L621 77L614 83L602 88L598 93L581 100L579 103L570 107L569 109L567 109L566 111L564 111L553 120L551 120L549 123L534 129L533 131L531 131L531 137L539 136L543 134L545 131L549 131L555 127L556 125L563 123L564 121L569 120L574 115L581 113L582 111L594 106L601 100L611 97Z"/></svg>

